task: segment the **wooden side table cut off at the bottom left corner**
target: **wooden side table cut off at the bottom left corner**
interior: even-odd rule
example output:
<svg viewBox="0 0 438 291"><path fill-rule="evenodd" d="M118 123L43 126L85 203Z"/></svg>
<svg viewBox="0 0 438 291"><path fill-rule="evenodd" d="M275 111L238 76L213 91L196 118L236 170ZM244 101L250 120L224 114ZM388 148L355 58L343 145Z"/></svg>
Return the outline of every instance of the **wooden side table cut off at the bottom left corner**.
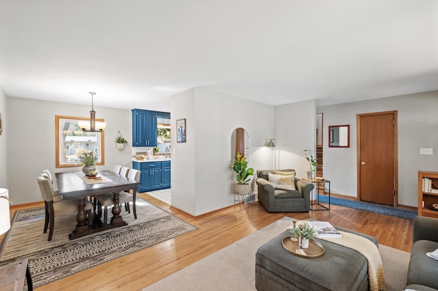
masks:
<svg viewBox="0 0 438 291"><path fill-rule="evenodd" d="M34 290L27 259L0 266L0 290L23 290L27 281L27 290Z"/></svg>

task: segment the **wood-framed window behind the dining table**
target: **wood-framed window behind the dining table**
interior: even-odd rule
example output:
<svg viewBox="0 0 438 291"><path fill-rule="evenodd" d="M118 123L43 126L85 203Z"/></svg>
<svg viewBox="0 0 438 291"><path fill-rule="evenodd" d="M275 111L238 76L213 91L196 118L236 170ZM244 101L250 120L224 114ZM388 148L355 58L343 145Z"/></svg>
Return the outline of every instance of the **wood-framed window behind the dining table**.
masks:
<svg viewBox="0 0 438 291"><path fill-rule="evenodd" d="M82 164L77 162L77 156L83 151L96 152L96 165L105 165L104 132L84 132L78 124L82 120L89 118L55 115L57 168L80 167ZM96 121L104 122L98 118Z"/></svg>

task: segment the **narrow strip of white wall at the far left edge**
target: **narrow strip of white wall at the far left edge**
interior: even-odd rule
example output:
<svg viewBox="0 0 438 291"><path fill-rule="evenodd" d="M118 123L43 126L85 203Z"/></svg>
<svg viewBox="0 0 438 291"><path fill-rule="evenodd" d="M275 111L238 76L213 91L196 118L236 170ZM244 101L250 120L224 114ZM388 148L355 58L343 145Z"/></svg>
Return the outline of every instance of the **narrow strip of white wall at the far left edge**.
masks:
<svg viewBox="0 0 438 291"><path fill-rule="evenodd" d="M8 102L0 87L0 113L3 120L3 134L0 135L0 188L8 189Z"/></svg>

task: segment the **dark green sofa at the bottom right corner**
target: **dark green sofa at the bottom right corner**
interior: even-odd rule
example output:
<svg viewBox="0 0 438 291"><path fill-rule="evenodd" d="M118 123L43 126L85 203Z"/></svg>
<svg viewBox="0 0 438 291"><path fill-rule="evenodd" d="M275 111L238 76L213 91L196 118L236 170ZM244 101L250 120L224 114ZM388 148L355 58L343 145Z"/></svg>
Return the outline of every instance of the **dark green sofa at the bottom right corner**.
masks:
<svg viewBox="0 0 438 291"><path fill-rule="evenodd" d="M415 217L406 289L438 290L438 260L426 253L438 249L438 219Z"/></svg>

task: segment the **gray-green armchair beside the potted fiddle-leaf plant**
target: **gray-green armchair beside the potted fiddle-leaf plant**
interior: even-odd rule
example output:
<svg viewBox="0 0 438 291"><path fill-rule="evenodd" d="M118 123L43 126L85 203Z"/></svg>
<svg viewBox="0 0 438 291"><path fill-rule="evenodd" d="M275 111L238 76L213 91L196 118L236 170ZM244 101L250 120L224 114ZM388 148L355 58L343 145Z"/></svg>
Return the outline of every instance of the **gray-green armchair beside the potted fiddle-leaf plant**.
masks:
<svg viewBox="0 0 438 291"><path fill-rule="evenodd" d="M294 170L283 169L279 171ZM259 202L268 212L309 212L310 193L314 187L312 183L295 178L296 190L277 189L268 182L268 173L274 174L274 170L257 170L257 179L255 180Z"/></svg>

